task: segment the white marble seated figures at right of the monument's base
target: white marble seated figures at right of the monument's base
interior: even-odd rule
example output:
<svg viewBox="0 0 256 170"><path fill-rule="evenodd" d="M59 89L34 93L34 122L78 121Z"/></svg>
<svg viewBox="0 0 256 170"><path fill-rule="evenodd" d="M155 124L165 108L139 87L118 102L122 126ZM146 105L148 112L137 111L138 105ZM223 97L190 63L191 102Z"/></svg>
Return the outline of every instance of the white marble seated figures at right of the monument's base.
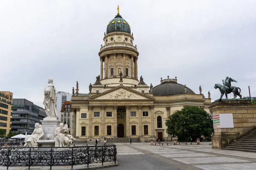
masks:
<svg viewBox="0 0 256 170"><path fill-rule="evenodd" d="M60 126L56 127L54 136L56 147L70 147L73 140L76 140L69 134L68 126L63 123L60 123Z"/></svg>

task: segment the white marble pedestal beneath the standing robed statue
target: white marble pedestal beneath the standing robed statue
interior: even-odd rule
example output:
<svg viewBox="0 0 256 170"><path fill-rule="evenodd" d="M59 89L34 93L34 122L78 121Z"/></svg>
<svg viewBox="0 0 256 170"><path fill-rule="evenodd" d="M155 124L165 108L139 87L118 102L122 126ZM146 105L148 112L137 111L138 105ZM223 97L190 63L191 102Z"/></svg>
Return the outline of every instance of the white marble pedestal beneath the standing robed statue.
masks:
<svg viewBox="0 0 256 170"><path fill-rule="evenodd" d="M55 136L54 130L58 127L61 123L57 118L44 118L41 120L42 128L44 130L44 136L41 141L38 141L38 147L55 147Z"/></svg>

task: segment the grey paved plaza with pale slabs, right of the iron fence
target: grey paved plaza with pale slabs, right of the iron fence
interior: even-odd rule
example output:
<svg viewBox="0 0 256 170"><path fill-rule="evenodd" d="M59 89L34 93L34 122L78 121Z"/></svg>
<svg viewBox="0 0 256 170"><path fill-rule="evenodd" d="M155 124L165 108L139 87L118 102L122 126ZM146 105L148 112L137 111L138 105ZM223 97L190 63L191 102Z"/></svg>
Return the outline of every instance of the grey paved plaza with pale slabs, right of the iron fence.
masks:
<svg viewBox="0 0 256 170"><path fill-rule="evenodd" d="M117 143L118 167L107 170L256 170L256 153L201 145Z"/></svg>

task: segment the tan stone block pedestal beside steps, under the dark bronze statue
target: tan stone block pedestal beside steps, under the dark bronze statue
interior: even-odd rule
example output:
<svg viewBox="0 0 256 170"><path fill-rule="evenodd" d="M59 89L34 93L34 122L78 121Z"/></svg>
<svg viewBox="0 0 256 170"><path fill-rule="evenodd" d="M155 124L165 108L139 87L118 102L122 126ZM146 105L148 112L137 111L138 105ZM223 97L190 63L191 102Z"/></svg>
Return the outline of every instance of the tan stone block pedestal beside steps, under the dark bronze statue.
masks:
<svg viewBox="0 0 256 170"><path fill-rule="evenodd" d="M212 115L233 114L233 128L214 129L212 148L222 148L256 125L256 105L247 99L215 100L209 107ZM225 123L225 122L221 122Z"/></svg>

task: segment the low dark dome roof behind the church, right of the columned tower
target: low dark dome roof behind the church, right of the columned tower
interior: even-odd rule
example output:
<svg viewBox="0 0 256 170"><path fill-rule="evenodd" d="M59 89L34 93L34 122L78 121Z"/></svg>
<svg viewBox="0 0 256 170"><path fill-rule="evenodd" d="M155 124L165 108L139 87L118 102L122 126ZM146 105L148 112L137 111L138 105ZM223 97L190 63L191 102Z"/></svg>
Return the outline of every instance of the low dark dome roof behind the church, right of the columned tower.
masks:
<svg viewBox="0 0 256 170"><path fill-rule="evenodd" d="M153 88L154 96L169 96L175 94L184 94L184 85L177 82L163 82ZM187 94L195 94L190 88L187 87Z"/></svg>

